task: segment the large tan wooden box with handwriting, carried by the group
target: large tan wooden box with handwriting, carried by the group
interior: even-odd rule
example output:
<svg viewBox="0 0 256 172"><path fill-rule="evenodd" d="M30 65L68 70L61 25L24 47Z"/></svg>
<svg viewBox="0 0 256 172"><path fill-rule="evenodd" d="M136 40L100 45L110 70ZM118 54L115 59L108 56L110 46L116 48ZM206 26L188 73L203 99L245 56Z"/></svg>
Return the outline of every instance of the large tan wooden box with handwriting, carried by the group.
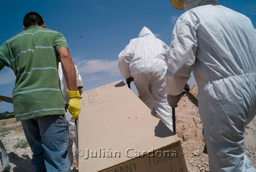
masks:
<svg viewBox="0 0 256 172"><path fill-rule="evenodd" d="M178 137L122 81L81 97L79 171L187 171Z"/></svg>

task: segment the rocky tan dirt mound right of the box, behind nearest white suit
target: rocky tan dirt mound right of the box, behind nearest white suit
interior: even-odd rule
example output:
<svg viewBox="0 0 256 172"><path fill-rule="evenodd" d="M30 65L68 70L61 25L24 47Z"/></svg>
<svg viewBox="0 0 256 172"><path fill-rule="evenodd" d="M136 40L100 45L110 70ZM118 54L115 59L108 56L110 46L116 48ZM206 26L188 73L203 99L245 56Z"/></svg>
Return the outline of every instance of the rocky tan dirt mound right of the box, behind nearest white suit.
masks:
<svg viewBox="0 0 256 172"><path fill-rule="evenodd" d="M197 92L198 88L194 85L190 93L197 97ZM205 143L198 107L188 100L187 95L184 95L175 111L176 134L182 142L188 171L209 171L208 156L203 153ZM245 154L256 167L256 118L246 126Z"/></svg>

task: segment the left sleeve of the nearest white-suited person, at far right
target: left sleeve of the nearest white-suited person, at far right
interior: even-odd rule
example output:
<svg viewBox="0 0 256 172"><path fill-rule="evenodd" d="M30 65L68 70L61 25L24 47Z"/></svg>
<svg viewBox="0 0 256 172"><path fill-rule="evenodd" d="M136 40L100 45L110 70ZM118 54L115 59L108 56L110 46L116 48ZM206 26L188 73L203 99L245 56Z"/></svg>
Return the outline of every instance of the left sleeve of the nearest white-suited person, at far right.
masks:
<svg viewBox="0 0 256 172"><path fill-rule="evenodd" d="M165 92L178 95L190 78L190 73L196 59L197 35L192 20L181 16L174 27L172 42L167 54L168 70L165 75ZM186 17L189 18L189 17Z"/></svg>

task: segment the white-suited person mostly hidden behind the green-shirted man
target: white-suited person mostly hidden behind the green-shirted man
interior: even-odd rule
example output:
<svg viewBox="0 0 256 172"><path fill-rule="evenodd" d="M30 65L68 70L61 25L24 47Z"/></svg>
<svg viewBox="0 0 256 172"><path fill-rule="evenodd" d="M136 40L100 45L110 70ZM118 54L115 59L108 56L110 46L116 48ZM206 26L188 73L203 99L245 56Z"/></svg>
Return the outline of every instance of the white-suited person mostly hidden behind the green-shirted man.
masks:
<svg viewBox="0 0 256 172"><path fill-rule="evenodd" d="M79 71L78 71L76 65L75 65L75 69L76 69L76 84L77 84L79 93L81 95L80 88L82 88L82 78L79 74ZM66 79L63 75L60 62L59 62L59 67L58 67L58 73L59 73L59 80L60 80L60 89L61 89L61 92L63 94L64 101L67 105L67 104L69 104L69 95L68 95L68 92L67 92L67 82L66 82ZM71 119L72 115L69 113L69 110L67 110L67 112L65 112L65 116L66 116L66 119L67 119L68 125L69 125L68 156L69 156L70 163L72 165L73 161L74 161L73 160L73 152L72 152L73 143L75 143L75 146L77 148L76 135L75 135L75 120ZM77 157L76 157L76 161L78 162Z"/></svg>

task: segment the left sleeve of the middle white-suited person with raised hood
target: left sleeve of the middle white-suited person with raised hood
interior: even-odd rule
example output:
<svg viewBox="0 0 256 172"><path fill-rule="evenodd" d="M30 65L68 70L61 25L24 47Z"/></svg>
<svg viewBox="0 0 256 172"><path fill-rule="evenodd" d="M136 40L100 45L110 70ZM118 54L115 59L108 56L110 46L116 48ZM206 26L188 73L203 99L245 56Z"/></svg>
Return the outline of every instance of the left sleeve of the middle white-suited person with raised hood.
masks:
<svg viewBox="0 0 256 172"><path fill-rule="evenodd" d="M130 71L130 63L132 61L131 55L131 41L130 44L125 47L125 49L118 55L118 68L120 70L120 74L124 79L129 78L131 76Z"/></svg>

